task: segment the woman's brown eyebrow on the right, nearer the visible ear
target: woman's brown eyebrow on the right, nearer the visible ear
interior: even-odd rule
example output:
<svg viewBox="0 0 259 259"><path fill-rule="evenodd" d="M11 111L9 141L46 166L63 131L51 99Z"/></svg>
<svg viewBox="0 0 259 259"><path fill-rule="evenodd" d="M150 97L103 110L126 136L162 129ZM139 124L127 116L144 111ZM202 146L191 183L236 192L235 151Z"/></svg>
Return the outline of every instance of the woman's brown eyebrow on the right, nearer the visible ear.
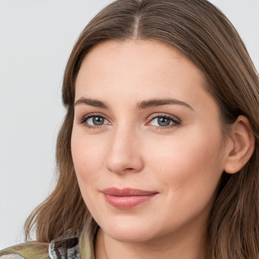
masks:
<svg viewBox="0 0 259 259"><path fill-rule="evenodd" d="M177 104L177 105L183 105L185 107L190 108L191 110L194 110L188 103L180 101L178 99L152 99L147 101L139 102L136 106L137 109L146 109L150 107L157 107L162 105L168 105L168 104Z"/></svg>

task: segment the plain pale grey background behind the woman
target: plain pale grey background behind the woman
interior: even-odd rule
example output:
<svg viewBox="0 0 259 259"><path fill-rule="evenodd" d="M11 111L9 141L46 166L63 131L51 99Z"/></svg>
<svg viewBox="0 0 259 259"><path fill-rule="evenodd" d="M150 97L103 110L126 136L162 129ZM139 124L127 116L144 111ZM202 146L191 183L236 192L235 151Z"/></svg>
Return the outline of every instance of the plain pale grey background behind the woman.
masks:
<svg viewBox="0 0 259 259"><path fill-rule="evenodd" d="M54 186L62 75L87 22L110 0L0 0L0 249ZM259 0L214 0L259 70Z"/></svg>

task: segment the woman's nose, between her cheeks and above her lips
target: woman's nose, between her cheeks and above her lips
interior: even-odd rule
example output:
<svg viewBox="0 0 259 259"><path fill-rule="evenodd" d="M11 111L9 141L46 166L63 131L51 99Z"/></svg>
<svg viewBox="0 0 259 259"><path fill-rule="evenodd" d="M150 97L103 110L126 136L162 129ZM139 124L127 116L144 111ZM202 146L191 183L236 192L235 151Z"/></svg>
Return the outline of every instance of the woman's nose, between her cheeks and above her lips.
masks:
<svg viewBox="0 0 259 259"><path fill-rule="evenodd" d="M140 172L144 167L140 138L133 130L117 129L110 136L106 167L115 174Z"/></svg>

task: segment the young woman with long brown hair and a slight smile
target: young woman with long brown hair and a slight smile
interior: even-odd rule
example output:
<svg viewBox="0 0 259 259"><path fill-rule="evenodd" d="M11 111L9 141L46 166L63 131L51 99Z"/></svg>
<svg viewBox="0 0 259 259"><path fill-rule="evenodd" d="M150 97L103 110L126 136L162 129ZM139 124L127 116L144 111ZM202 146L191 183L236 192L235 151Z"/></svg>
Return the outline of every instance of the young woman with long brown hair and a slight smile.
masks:
<svg viewBox="0 0 259 259"><path fill-rule="evenodd" d="M0 258L258 258L258 86L209 2L113 2L67 63L37 242Z"/></svg>

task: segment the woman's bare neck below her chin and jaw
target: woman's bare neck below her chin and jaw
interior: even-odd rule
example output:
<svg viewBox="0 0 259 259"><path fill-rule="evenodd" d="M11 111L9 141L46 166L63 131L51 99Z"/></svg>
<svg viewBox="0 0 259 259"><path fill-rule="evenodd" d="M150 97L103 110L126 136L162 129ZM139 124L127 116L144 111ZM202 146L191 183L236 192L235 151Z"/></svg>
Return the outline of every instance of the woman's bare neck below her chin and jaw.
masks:
<svg viewBox="0 0 259 259"><path fill-rule="evenodd" d="M206 250L204 232L178 233L175 236L161 236L143 242L121 242L99 230L95 253L96 259L204 259Z"/></svg>

